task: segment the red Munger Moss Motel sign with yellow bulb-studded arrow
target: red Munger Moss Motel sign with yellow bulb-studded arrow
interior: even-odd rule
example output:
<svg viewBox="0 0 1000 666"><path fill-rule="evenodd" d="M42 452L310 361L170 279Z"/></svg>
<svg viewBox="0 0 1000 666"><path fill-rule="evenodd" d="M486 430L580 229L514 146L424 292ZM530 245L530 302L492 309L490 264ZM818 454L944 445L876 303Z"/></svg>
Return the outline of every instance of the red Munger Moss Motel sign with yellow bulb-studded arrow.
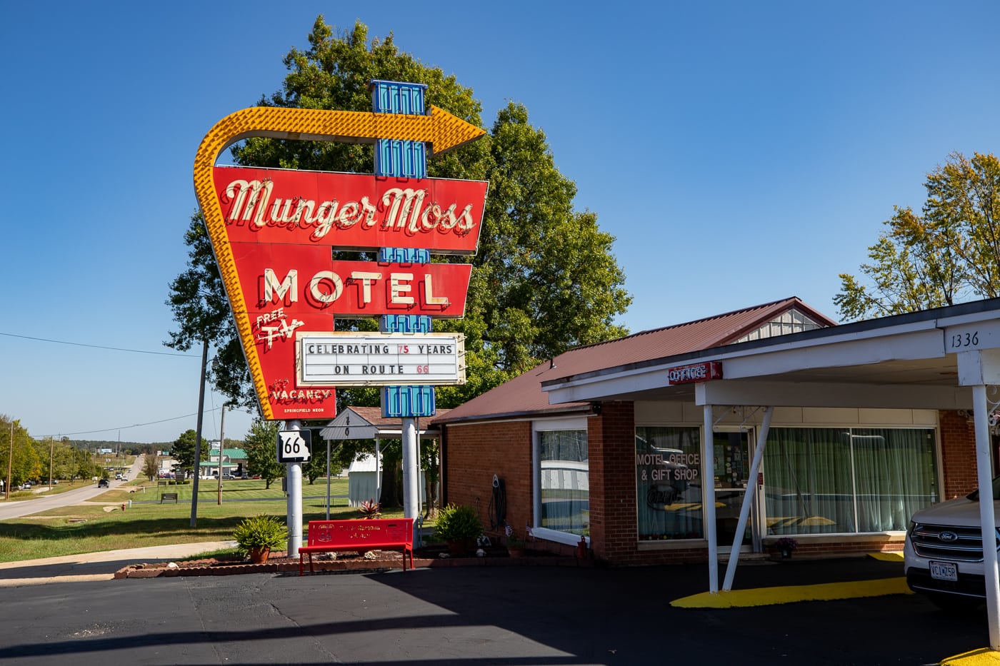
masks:
<svg viewBox="0 0 1000 666"><path fill-rule="evenodd" d="M195 192L265 419L336 416L333 385L298 383L298 333L332 332L334 315L464 314L470 266L334 262L332 253L390 245L473 254L486 183L216 167L222 151L265 136L423 141L437 154L483 134L436 107L429 115L256 107L205 135Z"/></svg>

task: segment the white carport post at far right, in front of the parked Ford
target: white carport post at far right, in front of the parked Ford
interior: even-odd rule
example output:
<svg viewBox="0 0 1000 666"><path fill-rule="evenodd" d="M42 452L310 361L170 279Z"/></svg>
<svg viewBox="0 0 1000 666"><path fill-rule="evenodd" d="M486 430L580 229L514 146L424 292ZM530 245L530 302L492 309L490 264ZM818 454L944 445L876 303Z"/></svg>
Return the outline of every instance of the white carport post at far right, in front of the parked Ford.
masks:
<svg viewBox="0 0 1000 666"><path fill-rule="evenodd" d="M977 384L972 387L972 408L976 424L976 474L979 480L979 522L983 538L983 573L986 577L990 648L1000 650L1000 617L997 616L1000 583L997 577L997 530L993 510L990 415L986 406L986 386Z"/></svg>

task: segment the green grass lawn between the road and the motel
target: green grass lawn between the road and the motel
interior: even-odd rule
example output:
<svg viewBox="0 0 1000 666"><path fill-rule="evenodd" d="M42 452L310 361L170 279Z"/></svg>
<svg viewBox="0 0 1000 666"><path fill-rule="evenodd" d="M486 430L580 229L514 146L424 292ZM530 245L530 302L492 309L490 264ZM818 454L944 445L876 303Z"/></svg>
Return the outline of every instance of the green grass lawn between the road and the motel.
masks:
<svg viewBox="0 0 1000 666"><path fill-rule="evenodd" d="M198 487L197 527L191 527L192 484L122 486L96 497L92 503L44 511L0 522L0 562L75 555L120 548L225 541L247 516L267 513L283 517L287 500L281 482L264 489L263 481L223 481L222 504L217 503L216 481L201 480ZM61 484L60 484L61 485ZM79 487L79 486L77 486ZM134 490L134 492L129 492ZM179 503L160 504L158 492L178 493ZM347 480L331 483L331 495L346 495ZM121 504L132 500L125 511ZM107 504L101 504L106 502ZM302 522L326 518L326 481L302 486ZM387 510L385 518L402 517L403 509ZM334 497L330 518L360 518L344 497Z"/></svg>

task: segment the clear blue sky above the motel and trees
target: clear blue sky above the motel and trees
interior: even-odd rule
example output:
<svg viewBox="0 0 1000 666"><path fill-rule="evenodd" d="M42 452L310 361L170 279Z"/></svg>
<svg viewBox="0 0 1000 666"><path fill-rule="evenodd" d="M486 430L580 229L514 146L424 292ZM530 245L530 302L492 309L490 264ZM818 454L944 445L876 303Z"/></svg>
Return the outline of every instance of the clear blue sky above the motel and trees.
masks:
<svg viewBox="0 0 1000 666"><path fill-rule="evenodd" d="M74 439L195 427L199 357L162 345L195 150L280 88L318 14L391 31L487 127L527 107L617 237L633 332L793 295L836 316L893 206L1000 140L993 2L7 3L0 414Z"/></svg>

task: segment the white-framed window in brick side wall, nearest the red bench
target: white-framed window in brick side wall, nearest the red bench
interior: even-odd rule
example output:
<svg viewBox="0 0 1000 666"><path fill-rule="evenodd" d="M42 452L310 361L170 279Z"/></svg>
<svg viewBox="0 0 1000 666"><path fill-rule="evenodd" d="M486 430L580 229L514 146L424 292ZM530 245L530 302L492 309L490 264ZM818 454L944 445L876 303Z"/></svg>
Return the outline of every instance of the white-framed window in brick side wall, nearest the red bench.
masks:
<svg viewBox="0 0 1000 666"><path fill-rule="evenodd" d="M542 524L560 532L590 534L590 456L586 430L538 433Z"/></svg>

